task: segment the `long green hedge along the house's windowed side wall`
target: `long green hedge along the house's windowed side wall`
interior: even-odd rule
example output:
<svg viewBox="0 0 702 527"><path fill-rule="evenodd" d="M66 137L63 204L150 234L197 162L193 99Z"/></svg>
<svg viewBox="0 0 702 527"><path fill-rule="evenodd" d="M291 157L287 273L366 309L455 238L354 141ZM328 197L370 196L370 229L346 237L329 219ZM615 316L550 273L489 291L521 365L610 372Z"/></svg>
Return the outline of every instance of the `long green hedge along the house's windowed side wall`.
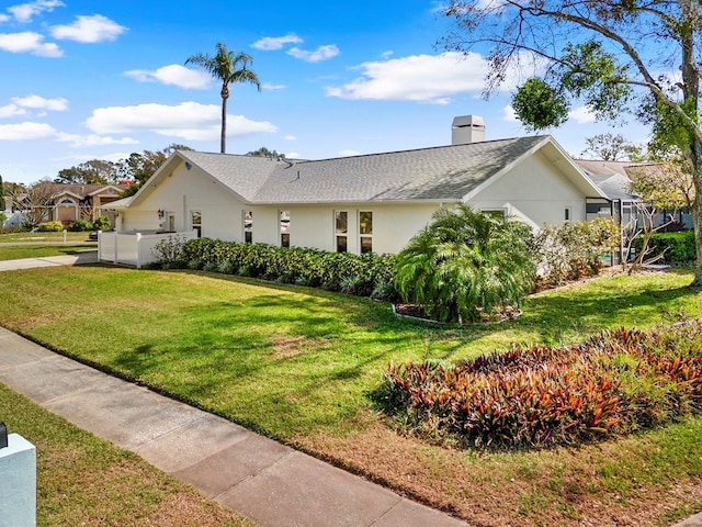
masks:
<svg viewBox="0 0 702 527"><path fill-rule="evenodd" d="M169 267L296 283L378 300L395 298L395 257L389 255L359 256L211 238L191 239L181 246L166 243L158 250L161 261Z"/></svg>

